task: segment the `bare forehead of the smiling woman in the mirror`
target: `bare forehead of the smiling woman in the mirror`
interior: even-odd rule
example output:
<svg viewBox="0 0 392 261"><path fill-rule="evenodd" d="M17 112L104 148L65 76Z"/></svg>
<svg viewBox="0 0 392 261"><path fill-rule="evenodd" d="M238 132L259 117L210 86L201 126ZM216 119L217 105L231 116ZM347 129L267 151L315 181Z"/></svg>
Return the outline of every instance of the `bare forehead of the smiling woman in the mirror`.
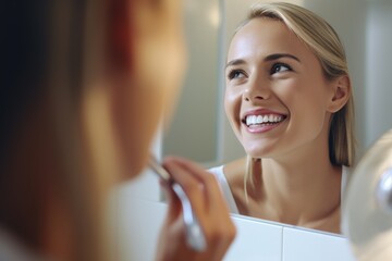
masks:
<svg viewBox="0 0 392 261"><path fill-rule="evenodd" d="M271 53L313 55L307 46L283 22L258 17L250 20L234 35L228 60Z"/></svg>

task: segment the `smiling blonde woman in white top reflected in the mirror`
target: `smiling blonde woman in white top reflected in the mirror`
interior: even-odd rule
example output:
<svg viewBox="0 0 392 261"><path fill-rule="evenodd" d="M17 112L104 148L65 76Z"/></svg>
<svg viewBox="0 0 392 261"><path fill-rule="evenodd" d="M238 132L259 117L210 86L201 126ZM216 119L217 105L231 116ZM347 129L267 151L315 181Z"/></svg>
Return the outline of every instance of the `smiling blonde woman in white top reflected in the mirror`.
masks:
<svg viewBox="0 0 392 261"><path fill-rule="evenodd" d="M210 171L231 211L340 233L354 119L336 33L304 8L257 4L226 61L225 112L247 159Z"/></svg>

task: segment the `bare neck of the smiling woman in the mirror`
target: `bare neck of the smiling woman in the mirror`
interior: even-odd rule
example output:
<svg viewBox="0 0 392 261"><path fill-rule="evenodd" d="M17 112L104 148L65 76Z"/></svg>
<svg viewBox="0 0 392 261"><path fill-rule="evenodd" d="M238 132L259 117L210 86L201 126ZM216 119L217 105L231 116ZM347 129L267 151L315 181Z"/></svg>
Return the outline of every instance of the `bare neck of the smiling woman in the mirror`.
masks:
<svg viewBox="0 0 392 261"><path fill-rule="evenodd" d="M322 152L304 160L264 159L262 189L277 220L305 225L323 220L340 208L341 173Z"/></svg>

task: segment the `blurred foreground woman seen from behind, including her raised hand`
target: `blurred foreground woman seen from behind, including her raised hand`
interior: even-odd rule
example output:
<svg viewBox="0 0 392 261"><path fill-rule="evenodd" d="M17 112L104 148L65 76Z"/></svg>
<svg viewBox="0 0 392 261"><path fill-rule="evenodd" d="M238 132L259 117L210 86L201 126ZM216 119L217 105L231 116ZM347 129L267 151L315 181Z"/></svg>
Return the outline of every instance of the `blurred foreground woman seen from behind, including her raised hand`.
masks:
<svg viewBox="0 0 392 261"><path fill-rule="evenodd" d="M185 65L180 1L15 0L3 10L0 259L114 260L107 197L143 171L172 110ZM183 159L163 164L207 249L186 245L167 186L157 260L221 260L235 228L216 179Z"/></svg>

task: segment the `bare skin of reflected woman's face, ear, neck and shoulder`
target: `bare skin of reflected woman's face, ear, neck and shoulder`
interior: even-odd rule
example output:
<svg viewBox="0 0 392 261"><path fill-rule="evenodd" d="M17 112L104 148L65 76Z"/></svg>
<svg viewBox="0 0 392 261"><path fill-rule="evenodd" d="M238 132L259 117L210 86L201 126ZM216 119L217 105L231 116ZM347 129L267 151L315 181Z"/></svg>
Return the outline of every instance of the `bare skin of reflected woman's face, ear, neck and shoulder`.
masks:
<svg viewBox="0 0 392 261"><path fill-rule="evenodd" d="M270 18L254 18L235 34L225 75L228 119L247 154L261 159L248 202L244 160L224 167L240 212L339 232L341 167L330 163L328 130L347 101L348 78L327 80L317 57ZM249 113L282 121L248 127Z"/></svg>

